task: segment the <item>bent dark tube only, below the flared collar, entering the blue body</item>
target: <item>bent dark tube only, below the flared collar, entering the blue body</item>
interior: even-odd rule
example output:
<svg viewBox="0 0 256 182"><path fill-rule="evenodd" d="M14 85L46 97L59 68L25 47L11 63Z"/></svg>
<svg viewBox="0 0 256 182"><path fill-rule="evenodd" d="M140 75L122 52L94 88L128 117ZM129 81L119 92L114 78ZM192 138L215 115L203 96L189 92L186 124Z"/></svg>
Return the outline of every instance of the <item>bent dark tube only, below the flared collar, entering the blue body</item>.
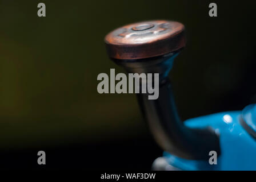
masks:
<svg viewBox="0 0 256 182"><path fill-rule="evenodd" d="M209 159L212 150L220 154L219 138L213 130L189 129L183 125L168 78L159 86L157 100L148 100L147 94L137 94L137 97L151 133L163 150L194 160Z"/></svg>

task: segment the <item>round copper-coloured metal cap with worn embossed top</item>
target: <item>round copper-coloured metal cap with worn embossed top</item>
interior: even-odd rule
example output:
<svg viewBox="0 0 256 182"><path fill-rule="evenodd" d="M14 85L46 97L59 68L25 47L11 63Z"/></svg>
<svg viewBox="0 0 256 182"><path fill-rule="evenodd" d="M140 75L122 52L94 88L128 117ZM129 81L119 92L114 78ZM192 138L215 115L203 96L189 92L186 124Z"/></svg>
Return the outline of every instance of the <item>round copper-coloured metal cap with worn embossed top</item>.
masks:
<svg viewBox="0 0 256 182"><path fill-rule="evenodd" d="M165 55L185 46L185 27L179 22L153 20L128 24L105 36L114 59L143 59Z"/></svg>

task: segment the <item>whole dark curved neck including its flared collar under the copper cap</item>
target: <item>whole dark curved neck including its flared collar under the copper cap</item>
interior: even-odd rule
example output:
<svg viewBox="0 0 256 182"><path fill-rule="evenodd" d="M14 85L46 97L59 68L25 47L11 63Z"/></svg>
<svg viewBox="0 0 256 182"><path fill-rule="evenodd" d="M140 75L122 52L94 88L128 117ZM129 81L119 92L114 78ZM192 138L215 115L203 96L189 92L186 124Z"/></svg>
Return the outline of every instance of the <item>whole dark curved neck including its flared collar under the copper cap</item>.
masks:
<svg viewBox="0 0 256 182"><path fill-rule="evenodd" d="M129 73L159 73L159 97L149 100L147 93L137 94L142 113L155 140L173 155L185 159L207 160L209 152L221 153L214 130L190 129L183 125L175 106L168 73L177 52L145 60L114 60Z"/></svg>

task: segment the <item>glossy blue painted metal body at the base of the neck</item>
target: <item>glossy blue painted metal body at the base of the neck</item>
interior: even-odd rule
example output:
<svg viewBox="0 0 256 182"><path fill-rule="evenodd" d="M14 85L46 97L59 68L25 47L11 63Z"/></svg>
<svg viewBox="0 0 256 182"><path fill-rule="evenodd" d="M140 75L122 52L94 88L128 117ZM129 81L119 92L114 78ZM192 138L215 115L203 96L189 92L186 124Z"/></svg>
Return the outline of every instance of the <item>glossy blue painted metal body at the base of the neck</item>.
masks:
<svg viewBox="0 0 256 182"><path fill-rule="evenodd" d="M241 125L241 118L255 131L256 105L249 105L243 111L227 111L185 121L187 127L210 126L219 134L221 155L217 165L181 159L167 152L163 156L171 166L182 170L256 170L256 139Z"/></svg>

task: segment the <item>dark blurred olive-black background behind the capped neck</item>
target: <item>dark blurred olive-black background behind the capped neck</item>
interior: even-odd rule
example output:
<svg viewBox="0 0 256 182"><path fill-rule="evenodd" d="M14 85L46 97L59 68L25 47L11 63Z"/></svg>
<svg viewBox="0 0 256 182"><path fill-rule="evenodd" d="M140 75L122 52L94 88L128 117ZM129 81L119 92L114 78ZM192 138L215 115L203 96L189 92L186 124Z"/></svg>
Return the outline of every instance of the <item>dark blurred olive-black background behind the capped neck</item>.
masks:
<svg viewBox="0 0 256 182"><path fill-rule="evenodd" d="M37 5L46 5L46 17ZM208 14L217 3L218 17ZM170 73L183 120L255 102L253 1L0 1L0 168L150 169L155 144L134 94L99 94L104 36L127 23L182 22ZM46 152L46 165L37 152Z"/></svg>

